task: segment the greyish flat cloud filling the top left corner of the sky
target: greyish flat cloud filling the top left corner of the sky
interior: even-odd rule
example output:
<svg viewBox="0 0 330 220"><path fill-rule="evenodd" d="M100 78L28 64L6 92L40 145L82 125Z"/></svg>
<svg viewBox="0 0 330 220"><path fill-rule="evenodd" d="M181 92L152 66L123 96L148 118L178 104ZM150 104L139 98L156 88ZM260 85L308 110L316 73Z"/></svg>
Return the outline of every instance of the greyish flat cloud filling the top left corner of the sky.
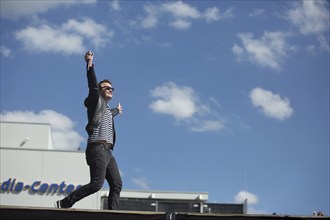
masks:
<svg viewBox="0 0 330 220"><path fill-rule="evenodd" d="M46 13L61 6L69 7L77 4L95 4L97 0L68 0L68 1L0 1L1 17L20 19L26 16Z"/></svg>

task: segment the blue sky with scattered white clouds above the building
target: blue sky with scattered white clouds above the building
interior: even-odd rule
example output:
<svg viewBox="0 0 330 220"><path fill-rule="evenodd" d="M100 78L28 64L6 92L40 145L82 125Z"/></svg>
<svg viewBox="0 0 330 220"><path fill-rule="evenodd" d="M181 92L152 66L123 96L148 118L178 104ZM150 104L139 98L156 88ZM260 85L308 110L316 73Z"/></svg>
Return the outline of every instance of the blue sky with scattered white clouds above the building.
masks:
<svg viewBox="0 0 330 220"><path fill-rule="evenodd" d="M1 1L1 120L85 148L83 55L116 88L125 189L329 214L329 1Z"/></svg>

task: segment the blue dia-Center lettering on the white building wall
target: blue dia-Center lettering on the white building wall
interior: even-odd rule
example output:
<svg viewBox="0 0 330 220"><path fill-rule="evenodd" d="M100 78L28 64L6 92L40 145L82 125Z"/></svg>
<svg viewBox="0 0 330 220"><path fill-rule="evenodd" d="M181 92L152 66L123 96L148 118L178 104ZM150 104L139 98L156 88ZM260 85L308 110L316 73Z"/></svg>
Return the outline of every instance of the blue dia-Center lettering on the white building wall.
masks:
<svg viewBox="0 0 330 220"><path fill-rule="evenodd" d="M16 178L9 178L7 181L0 183L1 193L20 193L28 191L29 194L49 195L49 194L69 194L72 191L80 188L81 185L66 184L65 181L61 183L43 183L39 180L34 181L32 184L25 184L16 180Z"/></svg>

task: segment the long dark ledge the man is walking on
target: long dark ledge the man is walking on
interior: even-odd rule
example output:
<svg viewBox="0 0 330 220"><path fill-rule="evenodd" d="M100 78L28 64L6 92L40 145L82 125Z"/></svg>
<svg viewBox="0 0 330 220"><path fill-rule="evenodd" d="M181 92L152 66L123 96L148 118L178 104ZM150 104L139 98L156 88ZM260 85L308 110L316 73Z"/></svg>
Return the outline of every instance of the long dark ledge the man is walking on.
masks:
<svg viewBox="0 0 330 220"><path fill-rule="evenodd" d="M296 219L314 220L330 219L329 216L288 216L288 215L228 215L228 214L195 214L195 213L164 213L109 211L88 209L56 209L19 206L0 206L1 219L5 220L271 220Z"/></svg>

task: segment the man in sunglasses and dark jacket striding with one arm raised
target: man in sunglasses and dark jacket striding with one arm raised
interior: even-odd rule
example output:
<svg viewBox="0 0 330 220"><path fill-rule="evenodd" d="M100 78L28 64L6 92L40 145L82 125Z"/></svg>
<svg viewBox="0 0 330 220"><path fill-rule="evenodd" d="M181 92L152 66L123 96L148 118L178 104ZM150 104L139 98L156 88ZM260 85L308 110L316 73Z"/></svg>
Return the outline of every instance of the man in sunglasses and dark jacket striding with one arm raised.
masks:
<svg viewBox="0 0 330 220"><path fill-rule="evenodd" d="M108 208L116 210L119 206L122 180L112 150L116 141L113 118L118 113L122 114L122 106L119 103L117 108L110 109L108 102L112 99L114 88L109 80L97 83L93 58L93 52L88 51L85 54L89 88L84 103L88 115L86 160L90 168L90 183L81 186L64 199L56 201L57 208L70 208L79 200L99 191L105 179L110 186Z"/></svg>

